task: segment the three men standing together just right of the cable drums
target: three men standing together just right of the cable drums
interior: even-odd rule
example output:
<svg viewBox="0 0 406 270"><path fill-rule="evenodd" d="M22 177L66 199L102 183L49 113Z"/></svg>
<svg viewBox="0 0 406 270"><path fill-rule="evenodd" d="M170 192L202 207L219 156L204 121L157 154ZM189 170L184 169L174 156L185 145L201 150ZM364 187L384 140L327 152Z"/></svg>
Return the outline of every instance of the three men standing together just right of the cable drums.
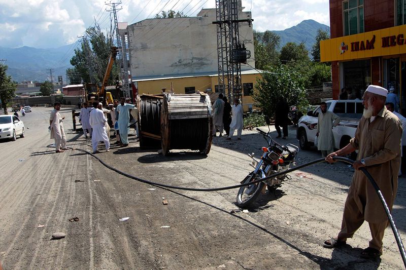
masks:
<svg viewBox="0 0 406 270"><path fill-rule="evenodd" d="M235 130L237 139L241 140L243 132L243 106L238 98L234 98L234 104L231 106L223 94L219 94L212 106L213 111L213 137L216 137L217 130L220 137L223 136L223 130L226 133L227 140L231 140Z"/></svg>

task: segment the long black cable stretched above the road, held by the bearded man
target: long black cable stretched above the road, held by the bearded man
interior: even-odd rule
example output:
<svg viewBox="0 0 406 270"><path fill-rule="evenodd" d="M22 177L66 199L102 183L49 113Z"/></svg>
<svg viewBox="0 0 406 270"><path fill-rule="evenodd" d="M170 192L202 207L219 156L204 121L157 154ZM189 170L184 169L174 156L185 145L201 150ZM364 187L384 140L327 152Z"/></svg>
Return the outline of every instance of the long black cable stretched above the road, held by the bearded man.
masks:
<svg viewBox="0 0 406 270"><path fill-rule="evenodd" d="M143 183L151 184L151 185L154 185L154 186L162 186L162 187L167 187L167 188L174 188L174 189L181 189L181 190L191 190L191 191L219 191L219 190L226 190L226 189L238 188L238 187L242 187L242 186L246 186L246 185L252 185L252 184L255 184L255 183L258 183L258 182L262 182L262 181L267 180L267 179L270 179L270 178L275 178L275 177L277 177L277 176L280 176L280 175L283 175L283 174L287 174L287 173L290 173L290 172L299 170L299 169L304 168L304 167L308 167L308 166L313 165L313 164L317 164L317 163L321 163L321 162L326 162L326 160L325 160L324 158L317 159L317 160L314 160L314 161L311 161L311 162L308 162L308 163L305 163L305 164L302 164L302 165L295 166L295 168L292 168L292 169L289 169L289 170L286 170L286 171L283 171L283 172L275 173L275 174L273 174L273 175L264 177L264 178L262 178L262 179L255 180L255 181L252 181L252 182L249 182L249 183L239 184L239 185L216 187L216 188L193 188L193 187L181 187L181 186L165 185L165 184L161 184L161 183L157 183L157 182L152 182L152 181L149 181L149 180L145 180L145 179L142 179L142 178L139 178L139 177L130 175L130 174L128 174L128 173L125 173L125 172L123 172L123 171L120 171L120 170L118 170L118 169L116 169L116 168L114 168L114 167L112 167L112 166L106 164L103 160L101 160L100 158L96 157L95 155L93 155L93 153L91 153L91 152L89 152L89 151L86 151L86 150L84 150L84 149L78 149L78 148L76 148L76 150L79 150L79 151L88 153L89 155L91 155L92 157L94 157L95 159L97 159L97 160L98 160L101 164L103 164L105 167L107 167L107 168L109 168L110 170L113 170L113 171L115 171L115 172L117 172L117 173L119 173L119 174L121 174L121 175L123 175L123 176L125 176L125 177L131 178L131 179L134 179L134 180L143 182ZM348 159L348 158L343 158L343 157L333 157L333 159L336 160L336 161L342 161L342 162L345 162L345 163L349 163L349 164L351 164L351 165L354 163L353 160ZM391 215L391 213L390 213L390 211L389 211L389 207L388 207L388 205L386 204L386 201L385 201L385 199L384 199L384 197L383 197L383 195L382 195L381 189L379 188L378 184L375 182L374 178L373 178L373 177L369 174L369 172L366 170L366 168L361 167L360 170L361 170L361 171L365 174L365 176L368 178L368 180L369 180L369 182L371 183L371 185L373 185L375 191L377 191L377 195L378 195L378 197L379 197L379 199L380 199L380 201L381 201L381 203L382 203L382 206L384 207L384 210L385 210L385 212L386 212L386 215L388 216L389 223L390 223L390 226L391 226L391 228L392 228L393 235L394 235L394 237L395 237L395 239L396 239L396 243L397 243L397 246L398 246L399 251L400 251L400 255L401 255L402 260L403 260L403 264L404 264L404 266L405 266L405 268L406 268L406 251L404 250L404 246L403 246L402 240L401 240L401 238L400 238L399 231L398 231L397 228L396 228L395 222L394 222L393 217L392 217L392 215Z"/></svg>

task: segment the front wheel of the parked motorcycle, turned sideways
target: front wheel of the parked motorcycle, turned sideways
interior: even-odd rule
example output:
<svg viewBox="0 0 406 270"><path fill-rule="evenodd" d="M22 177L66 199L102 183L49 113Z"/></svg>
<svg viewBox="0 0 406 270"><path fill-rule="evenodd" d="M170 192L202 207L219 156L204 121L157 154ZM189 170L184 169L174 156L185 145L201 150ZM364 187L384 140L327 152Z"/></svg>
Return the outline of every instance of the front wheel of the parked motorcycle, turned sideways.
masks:
<svg viewBox="0 0 406 270"><path fill-rule="evenodd" d="M242 184L249 183L259 179L261 179L261 176L258 174L254 174L252 172L249 175L247 175L247 177L245 177ZM250 206L261 194L263 186L264 186L263 182L258 182L252 185L245 185L240 187L237 194L237 205L239 207Z"/></svg>

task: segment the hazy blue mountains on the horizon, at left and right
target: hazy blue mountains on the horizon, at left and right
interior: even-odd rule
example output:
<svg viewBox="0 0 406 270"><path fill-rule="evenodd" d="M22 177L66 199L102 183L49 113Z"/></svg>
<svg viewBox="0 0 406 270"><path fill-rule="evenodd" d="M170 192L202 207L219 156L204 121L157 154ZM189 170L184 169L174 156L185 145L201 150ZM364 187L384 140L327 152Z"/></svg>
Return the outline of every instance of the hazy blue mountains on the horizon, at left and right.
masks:
<svg viewBox="0 0 406 270"><path fill-rule="evenodd" d="M330 27L314 20L304 20L299 24L281 31L272 31L281 37L281 48L288 42L303 42L310 51L315 43L317 30L330 31ZM36 49L31 47L0 47L0 63L8 65L7 73L17 82L50 80L50 69L53 80L58 76L66 80L66 68L72 67L70 60L74 55L75 44L55 49ZM2 59L7 61L3 62Z"/></svg>

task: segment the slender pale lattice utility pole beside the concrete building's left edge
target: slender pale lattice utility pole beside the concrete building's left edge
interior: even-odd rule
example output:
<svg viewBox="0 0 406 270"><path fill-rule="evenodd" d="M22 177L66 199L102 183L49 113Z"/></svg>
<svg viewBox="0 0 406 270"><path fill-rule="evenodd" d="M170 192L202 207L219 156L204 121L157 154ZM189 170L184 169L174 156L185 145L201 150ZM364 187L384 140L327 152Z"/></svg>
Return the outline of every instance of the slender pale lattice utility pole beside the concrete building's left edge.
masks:
<svg viewBox="0 0 406 270"><path fill-rule="evenodd" d="M125 37L123 38L123 41L121 40L121 36L119 33L118 29L118 20L117 20L117 11L122 10L122 8L117 8L118 5L121 5L121 1L119 3L106 3L107 6L111 7L111 10L108 10L108 12L113 13L114 16L114 27L116 31L116 42L117 42L117 47L118 47L118 58L120 60L120 78L122 78L123 82L123 93L124 97L129 98L130 97L130 90L129 90L129 84L128 84L128 65L127 65L127 52L126 52L126 42L125 42Z"/></svg>

